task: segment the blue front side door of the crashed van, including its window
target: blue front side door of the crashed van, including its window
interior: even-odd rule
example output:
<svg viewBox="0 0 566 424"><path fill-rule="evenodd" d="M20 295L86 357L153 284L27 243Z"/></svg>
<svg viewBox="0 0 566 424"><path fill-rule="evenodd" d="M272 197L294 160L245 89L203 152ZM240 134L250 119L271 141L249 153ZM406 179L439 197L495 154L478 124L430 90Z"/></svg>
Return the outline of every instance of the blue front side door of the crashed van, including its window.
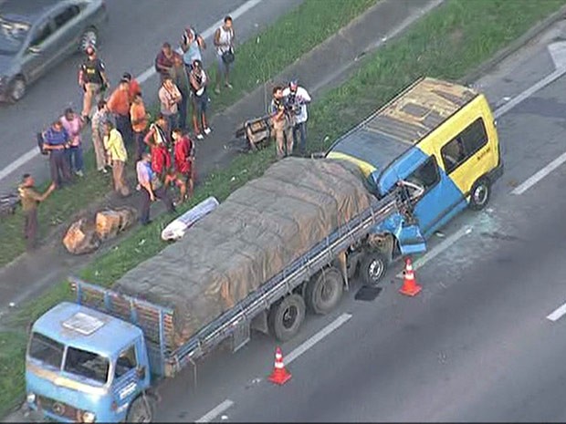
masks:
<svg viewBox="0 0 566 424"><path fill-rule="evenodd" d="M435 155L429 156L410 175L404 178L425 189L414 203L414 217L425 238L429 238L456 212L466 207L462 194L456 185L438 167Z"/></svg>

